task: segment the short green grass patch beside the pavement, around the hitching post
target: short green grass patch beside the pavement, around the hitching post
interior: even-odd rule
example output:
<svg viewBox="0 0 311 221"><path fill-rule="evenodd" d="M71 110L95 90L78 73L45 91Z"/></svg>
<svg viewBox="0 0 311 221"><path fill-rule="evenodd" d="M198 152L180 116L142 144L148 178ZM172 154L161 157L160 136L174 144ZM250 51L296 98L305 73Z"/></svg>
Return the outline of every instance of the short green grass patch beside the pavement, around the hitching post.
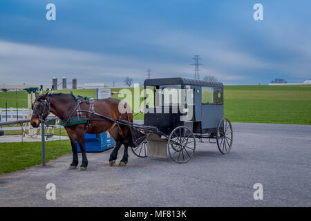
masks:
<svg viewBox="0 0 311 221"><path fill-rule="evenodd" d="M0 174L41 164L41 142L0 143ZM71 152L69 140L46 142L46 162Z"/></svg>

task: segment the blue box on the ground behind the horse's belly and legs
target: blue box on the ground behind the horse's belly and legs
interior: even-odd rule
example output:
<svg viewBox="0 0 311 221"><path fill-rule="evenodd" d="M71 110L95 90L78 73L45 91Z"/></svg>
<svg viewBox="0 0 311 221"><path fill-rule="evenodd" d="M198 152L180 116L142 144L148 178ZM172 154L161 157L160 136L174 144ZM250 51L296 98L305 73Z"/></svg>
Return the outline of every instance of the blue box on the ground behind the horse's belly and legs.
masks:
<svg viewBox="0 0 311 221"><path fill-rule="evenodd" d="M84 133L84 142L86 152L102 152L115 146L115 140L108 132L100 134ZM81 152L78 142L77 151Z"/></svg>

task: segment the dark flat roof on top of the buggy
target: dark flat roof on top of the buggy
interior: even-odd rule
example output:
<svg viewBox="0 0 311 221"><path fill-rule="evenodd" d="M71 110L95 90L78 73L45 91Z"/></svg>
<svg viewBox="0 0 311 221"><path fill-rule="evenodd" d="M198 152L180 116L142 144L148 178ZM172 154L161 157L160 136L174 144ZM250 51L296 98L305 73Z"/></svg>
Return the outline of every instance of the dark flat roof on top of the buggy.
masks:
<svg viewBox="0 0 311 221"><path fill-rule="evenodd" d="M176 84L223 88L223 83L221 82L202 81L202 80L187 79L187 78L182 78L182 77L153 78L153 79L144 80L144 86L176 85Z"/></svg>

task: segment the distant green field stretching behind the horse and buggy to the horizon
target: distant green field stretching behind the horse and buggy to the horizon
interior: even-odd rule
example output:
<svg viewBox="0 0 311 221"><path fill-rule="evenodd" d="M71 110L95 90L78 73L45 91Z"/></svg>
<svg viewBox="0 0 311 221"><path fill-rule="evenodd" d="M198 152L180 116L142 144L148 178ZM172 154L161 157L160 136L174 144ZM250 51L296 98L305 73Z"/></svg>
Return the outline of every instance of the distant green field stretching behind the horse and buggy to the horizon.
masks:
<svg viewBox="0 0 311 221"><path fill-rule="evenodd" d="M121 92L124 88L113 88ZM134 88L126 88L133 92ZM56 92L69 93L70 90ZM95 89L73 90L75 95L96 97ZM121 95L113 95L122 99ZM305 86L225 86L225 116L232 122L311 124L311 85ZM27 106L26 92L18 92L19 107ZM140 101L142 98L140 98ZM16 107L16 93L8 92L8 107ZM132 104L133 106L133 104ZM5 93L0 93L0 107L5 107ZM136 112L138 109L136 108ZM134 112L135 112L134 111ZM135 116L143 119L143 115Z"/></svg>

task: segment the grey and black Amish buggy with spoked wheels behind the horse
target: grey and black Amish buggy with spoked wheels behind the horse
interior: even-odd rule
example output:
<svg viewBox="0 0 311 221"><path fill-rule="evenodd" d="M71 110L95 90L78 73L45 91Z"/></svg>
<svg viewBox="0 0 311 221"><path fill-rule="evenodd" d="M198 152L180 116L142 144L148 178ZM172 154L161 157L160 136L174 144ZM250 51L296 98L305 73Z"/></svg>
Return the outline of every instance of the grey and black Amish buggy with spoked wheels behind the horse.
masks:
<svg viewBox="0 0 311 221"><path fill-rule="evenodd" d="M167 157L178 163L191 159L198 142L216 140L220 153L232 147L232 124L223 111L223 84L185 78L144 81L144 142L132 147L138 157ZM146 133L142 129L142 133Z"/></svg>

